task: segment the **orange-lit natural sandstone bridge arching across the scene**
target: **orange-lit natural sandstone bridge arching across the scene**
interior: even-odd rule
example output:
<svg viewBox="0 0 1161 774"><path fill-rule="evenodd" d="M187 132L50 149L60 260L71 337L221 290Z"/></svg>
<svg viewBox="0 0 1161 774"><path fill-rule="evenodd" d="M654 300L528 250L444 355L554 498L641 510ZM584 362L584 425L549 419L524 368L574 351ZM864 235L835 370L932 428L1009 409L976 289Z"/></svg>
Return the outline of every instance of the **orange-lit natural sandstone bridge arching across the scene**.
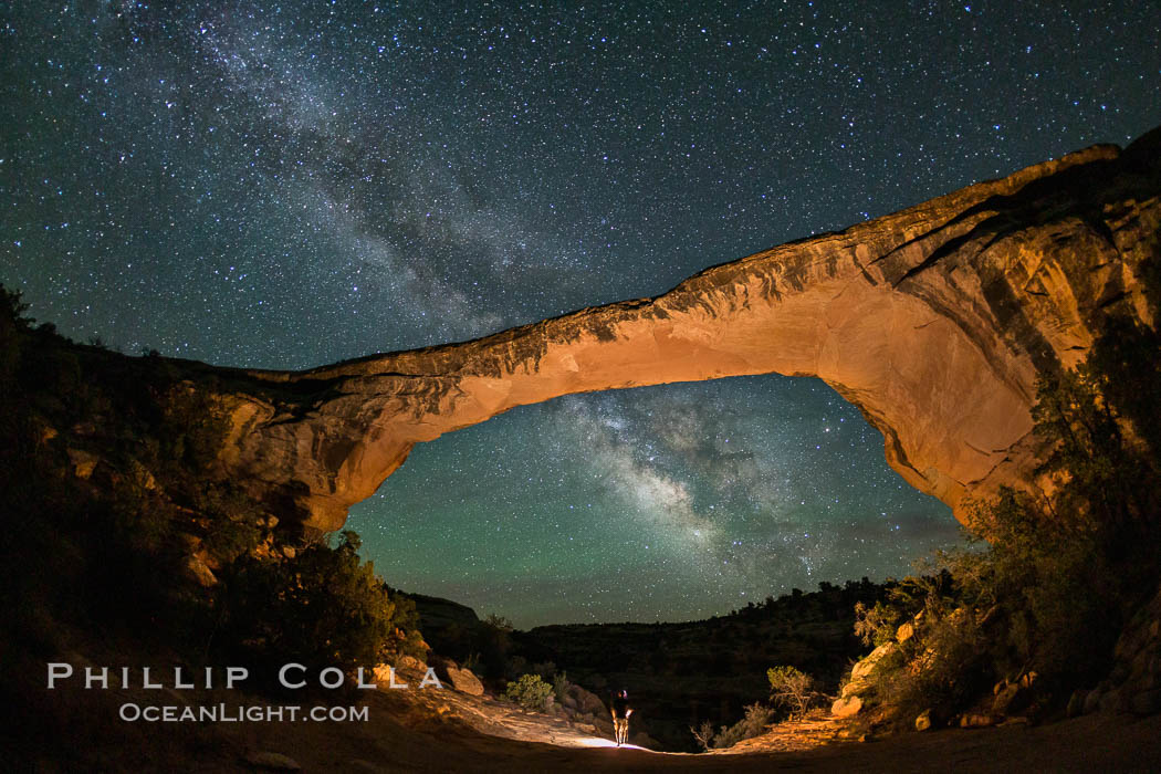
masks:
<svg viewBox="0 0 1161 774"><path fill-rule="evenodd" d="M715 266L656 298L301 372L237 371L222 461L308 528L342 525L411 448L593 390L817 376L890 465L964 515L1029 479L1038 374L1083 359L1112 310L1153 324L1161 130Z"/></svg>

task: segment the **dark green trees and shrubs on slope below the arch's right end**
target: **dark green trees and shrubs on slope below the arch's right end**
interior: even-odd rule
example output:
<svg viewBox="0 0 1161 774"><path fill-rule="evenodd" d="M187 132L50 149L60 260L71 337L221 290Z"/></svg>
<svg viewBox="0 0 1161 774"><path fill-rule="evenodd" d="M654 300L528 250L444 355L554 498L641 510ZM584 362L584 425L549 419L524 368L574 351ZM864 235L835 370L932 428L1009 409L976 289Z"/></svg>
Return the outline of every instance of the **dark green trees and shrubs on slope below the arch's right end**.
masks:
<svg viewBox="0 0 1161 774"><path fill-rule="evenodd" d="M1046 702L1104 677L1122 624L1159 581L1159 393L1158 334L1110 319L1084 363L1039 383L1047 494L975 504L973 547L938 556L938 572L906 579L886 605L857 608L866 644L915 622L875 675L900 717L950 716L1029 671Z"/></svg>

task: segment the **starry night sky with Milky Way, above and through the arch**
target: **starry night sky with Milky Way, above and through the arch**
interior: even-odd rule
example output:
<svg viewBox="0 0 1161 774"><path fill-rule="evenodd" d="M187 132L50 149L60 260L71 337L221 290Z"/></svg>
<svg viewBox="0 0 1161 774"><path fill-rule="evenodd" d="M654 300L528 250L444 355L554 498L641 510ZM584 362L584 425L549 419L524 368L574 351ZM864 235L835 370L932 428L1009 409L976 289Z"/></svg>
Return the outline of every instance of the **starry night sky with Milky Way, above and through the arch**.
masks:
<svg viewBox="0 0 1161 774"><path fill-rule="evenodd" d="M890 8L890 10L887 10ZM298 369L661 294L1161 122L1142 2L0 5L0 281L74 339ZM685 620L958 540L816 379L562 398L352 512L394 586Z"/></svg>

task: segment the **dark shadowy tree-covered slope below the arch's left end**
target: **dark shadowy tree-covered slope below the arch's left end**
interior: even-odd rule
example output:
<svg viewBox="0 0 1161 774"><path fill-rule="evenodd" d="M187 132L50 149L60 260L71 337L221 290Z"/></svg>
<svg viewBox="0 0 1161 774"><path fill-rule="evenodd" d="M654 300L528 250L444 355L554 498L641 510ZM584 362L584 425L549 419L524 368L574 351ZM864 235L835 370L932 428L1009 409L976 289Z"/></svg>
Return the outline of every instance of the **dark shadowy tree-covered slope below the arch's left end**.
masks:
<svg viewBox="0 0 1161 774"><path fill-rule="evenodd" d="M304 545L225 478L218 376L75 345L26 309L0 288L0 628L21 632L5 645L48 654L100 632L248 664L258 680L288 660L426 654L414 605L360 560L354 534Z"/></svg>

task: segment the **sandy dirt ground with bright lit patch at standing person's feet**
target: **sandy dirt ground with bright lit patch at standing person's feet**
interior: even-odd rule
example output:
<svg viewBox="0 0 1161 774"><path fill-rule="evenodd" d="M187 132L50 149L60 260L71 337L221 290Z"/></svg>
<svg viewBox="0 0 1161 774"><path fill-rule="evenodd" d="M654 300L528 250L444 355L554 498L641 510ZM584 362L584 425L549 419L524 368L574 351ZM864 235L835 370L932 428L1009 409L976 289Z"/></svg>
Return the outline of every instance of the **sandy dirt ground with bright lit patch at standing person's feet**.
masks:
<svg viewBox="0 0 1161 774"><path fill-rule="evenodd" d="M1161 717L1087 716L1054 725L838 742L832 718L781 724L709 754L618 748L601 736L457 692L377 692L370 722L262 740L304 771L362 772L1156 772ZM325 738L320 738L324 737ZM258 742L257 739L253 742ZM341 753L336 754L338 751Z"/></svg>

